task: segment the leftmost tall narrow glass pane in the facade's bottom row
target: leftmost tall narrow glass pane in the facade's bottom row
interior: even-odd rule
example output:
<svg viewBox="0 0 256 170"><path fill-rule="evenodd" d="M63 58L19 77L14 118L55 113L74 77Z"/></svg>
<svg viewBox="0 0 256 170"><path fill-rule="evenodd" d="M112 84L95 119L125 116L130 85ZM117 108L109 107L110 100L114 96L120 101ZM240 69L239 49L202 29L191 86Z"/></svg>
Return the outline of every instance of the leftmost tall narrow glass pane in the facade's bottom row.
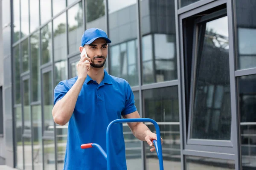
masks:
<svg viewBox="0 0 256 170"><path fill-rule="evenodd" d="M15 108L16 168L23 169L22 116L21 106Z"/></svg>

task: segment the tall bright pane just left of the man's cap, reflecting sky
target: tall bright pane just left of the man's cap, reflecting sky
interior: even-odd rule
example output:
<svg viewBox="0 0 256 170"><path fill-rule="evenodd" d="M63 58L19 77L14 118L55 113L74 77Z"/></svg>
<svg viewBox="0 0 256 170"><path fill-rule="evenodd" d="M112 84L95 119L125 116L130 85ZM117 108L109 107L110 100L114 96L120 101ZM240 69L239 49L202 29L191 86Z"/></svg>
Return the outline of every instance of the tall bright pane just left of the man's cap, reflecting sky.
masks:
<svg viewBox="0 0 256 170"><path fill-rule="evenodd" d="M67 11L68 22L68 52L78 52L81 46L81 37L84 33L83 8L79 2Z"/></svg>

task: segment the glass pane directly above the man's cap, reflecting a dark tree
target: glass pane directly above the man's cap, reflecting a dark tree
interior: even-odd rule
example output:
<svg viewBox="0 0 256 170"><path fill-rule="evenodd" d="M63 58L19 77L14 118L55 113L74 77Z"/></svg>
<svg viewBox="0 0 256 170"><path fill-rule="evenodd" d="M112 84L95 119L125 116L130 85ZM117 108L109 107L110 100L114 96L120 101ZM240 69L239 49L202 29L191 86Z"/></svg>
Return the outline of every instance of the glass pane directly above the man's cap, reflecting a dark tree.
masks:
<svg viewBox="0 0 256 170"><path fill-rule="evenodd" d="M106 29L105 0L86 0L86 28ZM81 39L81 37L80 37Z"/></svg>

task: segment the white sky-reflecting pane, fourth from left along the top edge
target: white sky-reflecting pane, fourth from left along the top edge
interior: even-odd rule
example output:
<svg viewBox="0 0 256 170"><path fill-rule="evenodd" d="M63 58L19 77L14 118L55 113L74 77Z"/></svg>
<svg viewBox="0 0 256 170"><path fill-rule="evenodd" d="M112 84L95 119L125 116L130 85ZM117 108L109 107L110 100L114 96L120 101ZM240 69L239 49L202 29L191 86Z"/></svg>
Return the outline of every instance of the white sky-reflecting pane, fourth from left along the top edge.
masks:
<svg viewBox="0 0 256 170"><path fill-rule="evenodd" d="M44 1L40 0L41 25L49 21L51 17L52 17L52 0L44 0Z"/></svg>

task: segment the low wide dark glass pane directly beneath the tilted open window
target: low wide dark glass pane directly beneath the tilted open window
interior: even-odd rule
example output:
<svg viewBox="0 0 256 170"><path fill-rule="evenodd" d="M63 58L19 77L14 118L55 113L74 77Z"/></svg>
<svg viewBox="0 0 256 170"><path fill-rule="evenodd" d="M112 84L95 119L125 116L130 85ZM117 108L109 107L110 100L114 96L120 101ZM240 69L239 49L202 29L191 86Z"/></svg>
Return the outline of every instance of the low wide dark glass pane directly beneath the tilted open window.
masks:
<svg viewBox="0 0 256 170"><path fill-rule="evenodd" d="M235 161L199 156L186 156L186 170L235 170Z"/></svg>

